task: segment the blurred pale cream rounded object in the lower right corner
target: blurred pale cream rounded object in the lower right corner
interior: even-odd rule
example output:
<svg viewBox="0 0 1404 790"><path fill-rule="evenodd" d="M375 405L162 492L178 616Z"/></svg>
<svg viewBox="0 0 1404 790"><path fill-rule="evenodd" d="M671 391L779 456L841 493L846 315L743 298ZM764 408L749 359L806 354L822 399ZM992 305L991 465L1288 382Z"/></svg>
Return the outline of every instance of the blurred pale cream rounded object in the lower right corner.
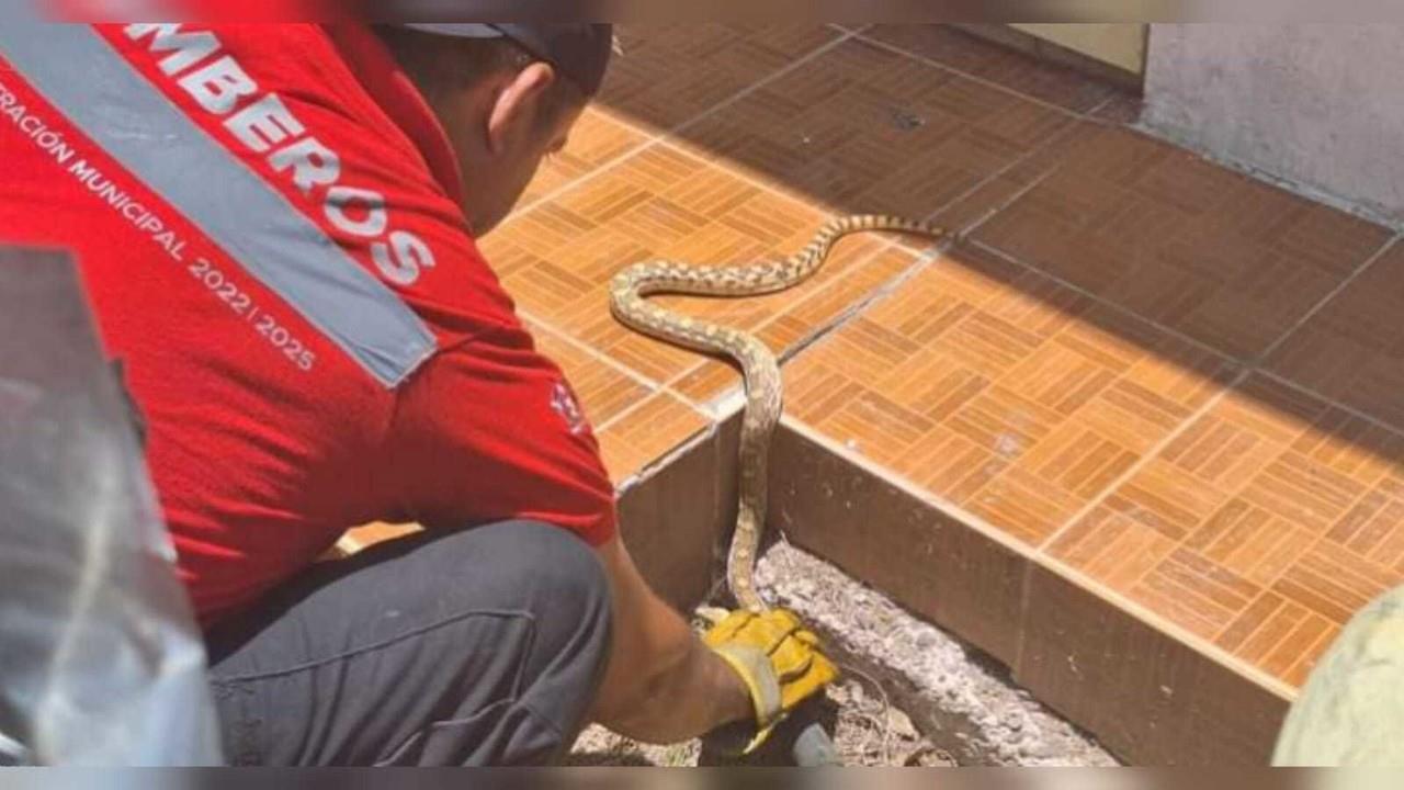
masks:
<svg viewBox="0 0 1404 790"><path fill-rule="evenodd" d="M1272 762L1404 768L1404 588L1356 614L1317 663Z"/></svg>

